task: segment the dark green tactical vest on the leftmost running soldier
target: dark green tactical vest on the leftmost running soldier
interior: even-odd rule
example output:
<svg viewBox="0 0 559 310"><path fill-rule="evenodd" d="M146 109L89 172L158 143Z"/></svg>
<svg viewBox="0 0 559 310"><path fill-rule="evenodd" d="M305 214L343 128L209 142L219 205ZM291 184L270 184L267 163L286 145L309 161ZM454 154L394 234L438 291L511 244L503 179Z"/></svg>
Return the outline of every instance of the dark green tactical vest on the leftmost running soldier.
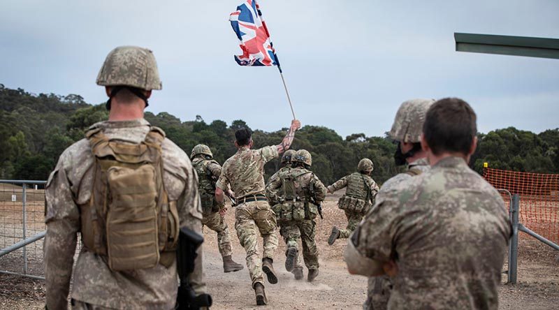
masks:
<svg viewBox="0 0 559 310"><path fill-rule="evenodd" d="M198 193L200 194L200 200L202 202L202 213L203 215L209 215L212 212L218 212L219 206L215 200L215 182L217 180L212 175L208 165L210 163L217 163L217 161L194 161L194 169L198 173Z"/></svg>

